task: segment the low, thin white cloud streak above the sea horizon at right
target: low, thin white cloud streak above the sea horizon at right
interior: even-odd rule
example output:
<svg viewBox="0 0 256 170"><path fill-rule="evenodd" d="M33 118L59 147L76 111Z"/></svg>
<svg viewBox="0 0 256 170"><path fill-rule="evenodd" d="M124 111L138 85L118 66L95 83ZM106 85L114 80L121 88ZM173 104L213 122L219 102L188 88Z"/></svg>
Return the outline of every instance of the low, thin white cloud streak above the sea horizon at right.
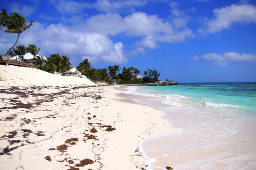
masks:
<svg viewBox="0 0 256 170"><path fill-rule="evenodd" d="M227 52L223 55L216 54L216 53L208 53L205 55L202 55L200 57L190 57L194 60L200 60L205 59L208 61L213 61L213 64L215 65L221 65L221 66L227 66L232 61L246 61L246 62L255 62L256 61L256 54L247 54L247 53L235 53L235 52Z"/></svg>

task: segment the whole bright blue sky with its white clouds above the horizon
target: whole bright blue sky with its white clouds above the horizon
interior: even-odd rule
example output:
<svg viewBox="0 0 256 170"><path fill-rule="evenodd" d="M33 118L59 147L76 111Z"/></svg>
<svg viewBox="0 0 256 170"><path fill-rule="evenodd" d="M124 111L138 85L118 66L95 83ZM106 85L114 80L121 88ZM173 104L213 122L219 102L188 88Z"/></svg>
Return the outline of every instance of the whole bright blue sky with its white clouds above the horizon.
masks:
<svg viewBox="0 0 256 170"><path fill-rule="evenodd" d="M256 82L255 0L1 0L33 26L17 45L73 66L148 68L160 80ZM17 35L0 31L0 54Z"/></svg>

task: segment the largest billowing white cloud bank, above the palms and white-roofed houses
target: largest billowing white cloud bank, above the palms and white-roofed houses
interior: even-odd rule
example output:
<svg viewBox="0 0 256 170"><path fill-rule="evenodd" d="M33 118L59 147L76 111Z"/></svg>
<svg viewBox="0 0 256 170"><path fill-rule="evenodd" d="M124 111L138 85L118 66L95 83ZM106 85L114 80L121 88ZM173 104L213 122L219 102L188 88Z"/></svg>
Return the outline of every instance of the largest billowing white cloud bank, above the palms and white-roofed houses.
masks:
<svg viewBox="0 0 256 170"><path fill-rule="evenodd" d="M170 5L173 11L170 20L144 12L132 12L125 16L113 12L142 6L146 0L50 0L49 3L61 14L56 17L58 22L47 25L34 21L18 41L24 45L35 44L41 48L40 55L46 57L59 53L68 57L90 57L98 62L127 63L127 56L123 52L124 42L113 42L111 36L128 38L132 44L128 48L133 48L130 54L144 53L147 48L156 49L159 42L176 43L193 36L192 30L187 27L187 16L178 10L176 3ZM84 9L88 8L106 13L85 17ZM15 42L15 38L9 38L9 42ZM0 41L0 46L4 44L3 41Z"/></svg>

